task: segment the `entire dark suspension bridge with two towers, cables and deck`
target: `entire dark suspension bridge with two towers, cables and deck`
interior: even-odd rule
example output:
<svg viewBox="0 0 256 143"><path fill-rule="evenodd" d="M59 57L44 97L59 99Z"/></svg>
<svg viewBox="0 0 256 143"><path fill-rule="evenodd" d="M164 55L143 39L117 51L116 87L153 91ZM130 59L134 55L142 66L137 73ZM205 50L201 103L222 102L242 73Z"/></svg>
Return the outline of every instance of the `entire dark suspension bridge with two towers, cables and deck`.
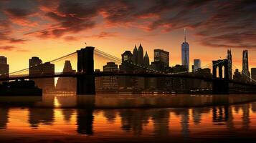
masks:
<svg viewBox="0 0 256 143"><path fill-rule="evenodd" d="M212 77L205 76L204 74L194 74L193 71L181 71L181 72L166 72L153 69L148 66L135 64L132 61L122 61L118 57L110 55L99 49L95 49L93 46L86 46L83 49L77 50L65 56L57 59L53 59L49 62L62 61L69 56L77 56L77 71L75 72L54 72L54 74L42 73L42 74L19 74L29 69L34 68L30 66L27 69L21 69L19 71L11 72L8 76L2 74L0 81L10 81L19 79L42 79L50 77L73 77L77 79L77 94L95 94L95 77L167 77L167 78L180 78L180 79L199 79L205 82L212 83L212 94L229 94L229 85L237 85L237 87L243 89L256 89L256 81L248 77L249 81L235 81L229 79L228 61L227 59L218 59L212 61L203 67L212 69ZM108 61L124 62L129 66L140 69L138 71L95 71L95 55L100 56ZM39 66L39 65L35 65ZM232 65L234 66L234 65ZM256 92L256 90L255 90Z"/></svg>

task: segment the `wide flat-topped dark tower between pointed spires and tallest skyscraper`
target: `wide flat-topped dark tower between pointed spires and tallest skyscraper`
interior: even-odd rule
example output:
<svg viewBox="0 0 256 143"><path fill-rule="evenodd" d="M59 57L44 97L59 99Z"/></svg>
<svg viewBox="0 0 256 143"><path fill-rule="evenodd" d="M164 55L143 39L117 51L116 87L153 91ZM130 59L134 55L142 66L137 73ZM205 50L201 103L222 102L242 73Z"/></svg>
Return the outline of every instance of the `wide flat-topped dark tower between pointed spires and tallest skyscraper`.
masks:
<svg viewBox="0 0 256 143"><path fill-rule="evenodd" d="M169 66L169 52L164 51L163 49L154 49L153 50L153 61L161 61L164 66Z"/></svg>

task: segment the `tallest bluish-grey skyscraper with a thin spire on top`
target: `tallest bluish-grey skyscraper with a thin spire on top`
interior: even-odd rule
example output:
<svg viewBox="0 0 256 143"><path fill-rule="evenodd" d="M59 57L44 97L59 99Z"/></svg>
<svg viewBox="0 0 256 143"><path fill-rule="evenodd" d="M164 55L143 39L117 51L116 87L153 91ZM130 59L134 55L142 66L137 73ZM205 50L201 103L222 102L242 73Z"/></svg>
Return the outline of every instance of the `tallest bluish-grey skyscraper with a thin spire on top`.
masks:
<svg viewBox="0 0 256 143"><path fill-rule="evenodd" d="M181 63L189 70L189 43L186 42L186 29L184 29L184 42L181 44Z"/></svg>

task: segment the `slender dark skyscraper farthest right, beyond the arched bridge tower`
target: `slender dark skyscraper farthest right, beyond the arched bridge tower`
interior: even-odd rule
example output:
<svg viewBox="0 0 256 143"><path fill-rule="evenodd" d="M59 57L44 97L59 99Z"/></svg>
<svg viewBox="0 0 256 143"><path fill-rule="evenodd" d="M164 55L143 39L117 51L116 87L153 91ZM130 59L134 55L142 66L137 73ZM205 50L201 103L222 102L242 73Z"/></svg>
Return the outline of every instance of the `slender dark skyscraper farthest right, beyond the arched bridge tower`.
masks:
<svg viewBox="0 0 256 143"><path fill-rule="evenodd" d="M242 76L245 77L247 81L250 81L250 71L248 66L248 51L242 51Z"/></svg>

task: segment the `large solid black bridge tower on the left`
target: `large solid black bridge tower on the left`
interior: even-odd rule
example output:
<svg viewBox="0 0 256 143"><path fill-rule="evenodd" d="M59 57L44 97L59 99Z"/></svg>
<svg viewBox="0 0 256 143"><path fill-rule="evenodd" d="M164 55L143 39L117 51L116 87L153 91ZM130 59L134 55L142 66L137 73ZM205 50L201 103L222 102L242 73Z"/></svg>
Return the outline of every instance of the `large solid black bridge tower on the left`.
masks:
<svg viewBox="0 0 256 143"><path fill-rule="evenodd" d="M93 46L77 50L77 71L85 74L77 76L77 94L95 94Z"/></svg>

